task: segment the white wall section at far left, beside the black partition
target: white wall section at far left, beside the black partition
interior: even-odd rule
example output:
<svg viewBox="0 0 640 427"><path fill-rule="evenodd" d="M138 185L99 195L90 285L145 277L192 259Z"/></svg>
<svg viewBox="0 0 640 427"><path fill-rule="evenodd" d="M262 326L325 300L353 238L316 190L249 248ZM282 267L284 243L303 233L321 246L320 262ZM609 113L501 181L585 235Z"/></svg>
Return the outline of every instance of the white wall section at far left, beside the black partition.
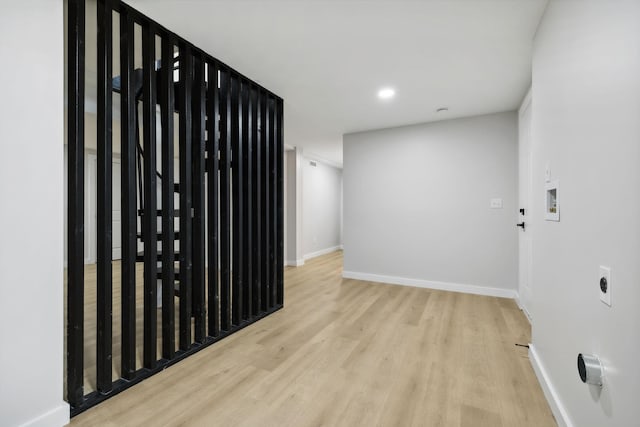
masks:
<svg viewBox="0 0 640 427"><path fill-rule="evenodd" d="M0 424L63 425L63 3L0 14ZM34 110L35 108L35 110Z"/></svg>

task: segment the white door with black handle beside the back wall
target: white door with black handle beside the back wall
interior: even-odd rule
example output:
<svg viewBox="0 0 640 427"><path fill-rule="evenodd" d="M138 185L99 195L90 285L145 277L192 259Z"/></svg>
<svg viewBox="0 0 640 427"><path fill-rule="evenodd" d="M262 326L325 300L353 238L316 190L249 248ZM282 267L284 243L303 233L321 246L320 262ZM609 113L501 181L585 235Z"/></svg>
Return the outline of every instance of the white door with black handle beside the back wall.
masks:
<svg viewBox="0 0 640 427"><path fill-rule="evenodd" d="M518 177L519 177L519 209L518 234L519 234L519 278L518 292L519 303L525 314L531 319L532 296L532 224L531 224L531 96L525 97L520 107L518 120Z"/></svg>

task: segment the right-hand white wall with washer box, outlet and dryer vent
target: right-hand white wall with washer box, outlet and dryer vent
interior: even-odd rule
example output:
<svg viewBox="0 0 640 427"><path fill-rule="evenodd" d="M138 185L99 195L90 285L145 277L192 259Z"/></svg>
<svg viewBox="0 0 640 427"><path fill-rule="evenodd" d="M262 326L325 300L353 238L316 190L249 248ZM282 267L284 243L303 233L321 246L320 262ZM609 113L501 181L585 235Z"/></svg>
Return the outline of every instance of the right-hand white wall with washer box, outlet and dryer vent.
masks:
<svg viewBox="0 0 640 427"><path fill-rule="evenodd" d="M640 423L639 17L637 1L552 1L534 42L534 365L580 427ZM560 222L542 218L547 162ZM579 352L605 364L601 392L580 382Z"/></svg>

